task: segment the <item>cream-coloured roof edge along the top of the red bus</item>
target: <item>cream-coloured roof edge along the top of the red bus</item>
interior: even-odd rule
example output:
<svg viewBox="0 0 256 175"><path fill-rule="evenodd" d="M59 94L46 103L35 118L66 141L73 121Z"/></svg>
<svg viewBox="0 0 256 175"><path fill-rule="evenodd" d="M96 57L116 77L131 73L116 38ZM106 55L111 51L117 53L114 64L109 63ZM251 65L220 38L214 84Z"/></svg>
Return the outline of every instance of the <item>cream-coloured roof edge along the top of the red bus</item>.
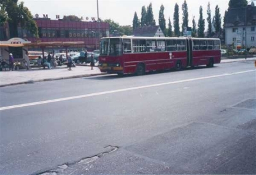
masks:
<svg viewBox="0 0 256 175"><path fill-rule="evenodd" d="M220 40L219 38L193 38L193 37L141 37L141 36L114 36L114 37L104 37L101 39L109 39L109 38L122 38L122 39L145 39L145 40L184 40L186 38L191 38L192 40Z"/></svg>

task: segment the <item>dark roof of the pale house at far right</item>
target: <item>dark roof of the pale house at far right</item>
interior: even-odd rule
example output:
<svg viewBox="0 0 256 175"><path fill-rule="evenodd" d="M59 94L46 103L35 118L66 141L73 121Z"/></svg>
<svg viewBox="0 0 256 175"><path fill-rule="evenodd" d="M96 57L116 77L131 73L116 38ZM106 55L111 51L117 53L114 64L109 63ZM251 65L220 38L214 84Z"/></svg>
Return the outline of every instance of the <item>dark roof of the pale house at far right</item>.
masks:
<svg viewBox="0 0 256 175"><path fill-rule="evenodd" d="M248 5L246 8L228 8L225 25L226 27L256 25L256 6Z"/></svg>

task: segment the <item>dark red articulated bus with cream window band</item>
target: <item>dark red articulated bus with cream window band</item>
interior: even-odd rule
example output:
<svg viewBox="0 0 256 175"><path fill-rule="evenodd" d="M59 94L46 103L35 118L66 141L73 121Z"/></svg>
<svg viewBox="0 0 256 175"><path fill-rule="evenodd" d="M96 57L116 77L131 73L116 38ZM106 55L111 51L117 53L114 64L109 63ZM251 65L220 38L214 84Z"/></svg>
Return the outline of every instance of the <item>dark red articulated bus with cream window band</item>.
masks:
<svg viewBox="0 0 256 175"><path fill-rule="evenodd" d="M181 70L188 66L214 66L221 61L220 39L109 37L100 41L99 68L101 72L136 73Z"/></svg>

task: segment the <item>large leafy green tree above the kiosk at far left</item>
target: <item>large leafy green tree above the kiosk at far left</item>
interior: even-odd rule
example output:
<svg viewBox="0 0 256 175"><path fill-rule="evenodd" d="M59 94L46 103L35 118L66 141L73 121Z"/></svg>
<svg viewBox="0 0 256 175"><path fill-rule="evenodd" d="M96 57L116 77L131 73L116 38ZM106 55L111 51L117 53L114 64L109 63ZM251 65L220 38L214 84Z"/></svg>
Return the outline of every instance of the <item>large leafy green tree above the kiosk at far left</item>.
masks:
<svg viewBox="0 0 256 175"><path fill-rule="evenodd" d="M8 22L10 38L18 37L19 25L38 38L36 22L23 2L18 3L18 0L0 0L0 7L0 24L3 25L5 22Z"/></svg>

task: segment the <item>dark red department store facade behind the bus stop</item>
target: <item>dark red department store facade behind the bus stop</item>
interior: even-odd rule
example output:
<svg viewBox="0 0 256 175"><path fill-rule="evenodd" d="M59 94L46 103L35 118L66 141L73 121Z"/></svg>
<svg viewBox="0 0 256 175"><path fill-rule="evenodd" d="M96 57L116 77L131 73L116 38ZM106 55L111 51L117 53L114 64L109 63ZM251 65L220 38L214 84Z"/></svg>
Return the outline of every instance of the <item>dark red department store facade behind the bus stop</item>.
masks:
<svg viewBox="0 0 256 175"><path fill-rule="evenodd" d="M109 24L106 22L84 22L70 20L51 20L45 18L34 19L38 26L39 39L35 38L26 29L18 28L19 38L31 42L84 42L86 49L99 49L99 38L109 36ZM8 40L4 33L6 29L0 29L1 40Z"/></svg>

